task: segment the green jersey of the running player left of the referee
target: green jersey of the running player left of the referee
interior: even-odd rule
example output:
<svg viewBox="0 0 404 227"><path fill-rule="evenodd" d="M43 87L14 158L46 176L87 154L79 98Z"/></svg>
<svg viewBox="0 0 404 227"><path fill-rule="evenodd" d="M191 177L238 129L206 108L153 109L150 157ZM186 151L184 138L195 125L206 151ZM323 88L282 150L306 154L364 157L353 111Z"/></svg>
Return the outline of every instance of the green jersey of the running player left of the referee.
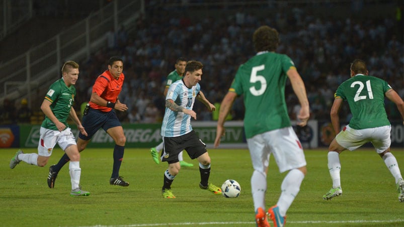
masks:
<svg viewBox="0 0 404 227"><path fill-rule="evenodd" d="M68 127L67 117L69 116L75 95L76 88L73 85L67 87L63 78L52 83L45 95L45 99L52 102L52 104L50 104L50 109L53 114L57 120L66 125L66 127ZM46 116L41 126L45 129L58 130L55 124Z"/></svg>

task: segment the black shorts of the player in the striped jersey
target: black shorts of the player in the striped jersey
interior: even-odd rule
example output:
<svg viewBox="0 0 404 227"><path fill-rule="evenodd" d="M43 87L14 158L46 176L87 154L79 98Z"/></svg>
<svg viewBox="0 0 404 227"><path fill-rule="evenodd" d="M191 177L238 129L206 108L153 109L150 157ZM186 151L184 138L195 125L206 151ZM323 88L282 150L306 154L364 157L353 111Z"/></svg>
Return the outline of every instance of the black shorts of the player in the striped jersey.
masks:
<svg viewBox="0 0 404 227"><path fill-rule="evenodd" d="M185 150L191 159L196 159L206 153L204 144L195 131L179 137L163 137L163 151L161 161L169 164L179 162L178 154Z"/></svg>

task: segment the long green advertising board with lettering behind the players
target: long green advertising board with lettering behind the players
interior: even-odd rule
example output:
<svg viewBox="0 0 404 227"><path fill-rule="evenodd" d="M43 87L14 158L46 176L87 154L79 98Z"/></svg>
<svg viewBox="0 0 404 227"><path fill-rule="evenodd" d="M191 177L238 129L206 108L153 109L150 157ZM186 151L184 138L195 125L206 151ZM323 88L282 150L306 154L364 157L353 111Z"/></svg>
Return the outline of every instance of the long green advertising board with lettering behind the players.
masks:
<svg viewBox="0 0 404 227"><path fill-rule="evenodd" d="M192 127L198 134L207 148L213 148L216 138L216 122L192 122ZM295 125L294 122L292 122ZM78 130L75 125L70 126L72 133L77 138ZM161 124L124 124L123 129L126 136L128 148L150 148L161 143ZM221 148L247 148L244 125L241 121L229 121L225 123L226 133L220 142ZM22 147L37 147L39 141L40 126L22 126L21 141ZM309 121L308 126L297 133L304 147L317 147L317 122ZM113 139L99 130L89 143L89 148L109 148L114 146Z"/></svg>

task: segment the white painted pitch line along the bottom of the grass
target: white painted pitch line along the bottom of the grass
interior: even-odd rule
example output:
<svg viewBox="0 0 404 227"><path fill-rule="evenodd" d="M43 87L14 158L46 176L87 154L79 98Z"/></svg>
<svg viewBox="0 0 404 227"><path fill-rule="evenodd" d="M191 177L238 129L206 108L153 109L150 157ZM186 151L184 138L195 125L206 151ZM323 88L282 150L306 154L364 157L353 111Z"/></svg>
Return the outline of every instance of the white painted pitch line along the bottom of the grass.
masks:
<svg viewBox="0 0 404 227"><path fill-rule="evenodd" d="M404 219L391 219L391 220L301 220L301 221L288 221L288 223L300 223L300 224L318 224L318 223L389 223L389 222L404 222ZM175 225L210 225L210 224L255 224L253 221L221 221L221 222L180 222L180 223L150 223L150 224L127 224L127 225L90 225L81 227L142 227L142 226L175 226Z"/></svg>

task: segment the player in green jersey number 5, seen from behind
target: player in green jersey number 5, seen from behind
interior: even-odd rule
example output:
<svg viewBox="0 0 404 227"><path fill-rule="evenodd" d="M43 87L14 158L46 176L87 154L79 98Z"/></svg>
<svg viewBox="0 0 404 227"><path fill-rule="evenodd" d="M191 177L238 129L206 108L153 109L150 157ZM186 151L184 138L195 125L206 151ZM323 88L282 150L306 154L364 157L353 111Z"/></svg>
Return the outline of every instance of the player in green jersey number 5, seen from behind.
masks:
<svg viewBox="0 0 404 227"><path fill-rule="evenodd" d="M309 118L309 103L304 83L293 61L276 53L278 32L268 26L259 27L253 34L257 54L240 65L234 80L224 96L219 110L216 139L218 147L224 135L226 116L239 95L244 95L246 107L244 129L254 172L251 190L257 226L270 226L265 212L267 170L269 157L274 155L280 172L288 171L281 184L282 193L276 205L268 209L275 226L283 226L286 211L300 190L306 174L303 149L290 124L285 102L285 83L289 78L299 103L299 126Z"/></svg>

